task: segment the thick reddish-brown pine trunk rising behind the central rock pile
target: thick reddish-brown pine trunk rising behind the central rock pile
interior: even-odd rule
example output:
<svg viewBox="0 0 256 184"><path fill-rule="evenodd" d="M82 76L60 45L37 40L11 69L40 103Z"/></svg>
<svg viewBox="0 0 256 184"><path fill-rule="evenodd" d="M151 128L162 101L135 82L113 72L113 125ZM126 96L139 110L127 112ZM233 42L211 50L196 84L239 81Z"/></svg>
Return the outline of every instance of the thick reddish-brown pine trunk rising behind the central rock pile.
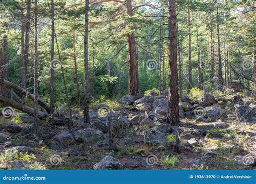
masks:
<svg viewBox="0 0 256 184"><path fill-rule="evenodd" d="M126 0L126 11L132 16L132 1ZM131 31L134 29L130 27ZM128 34L129 47L129 95L137 95L139 93L139 68L138 56L136 52L136 41L133 33Z"/></svg>

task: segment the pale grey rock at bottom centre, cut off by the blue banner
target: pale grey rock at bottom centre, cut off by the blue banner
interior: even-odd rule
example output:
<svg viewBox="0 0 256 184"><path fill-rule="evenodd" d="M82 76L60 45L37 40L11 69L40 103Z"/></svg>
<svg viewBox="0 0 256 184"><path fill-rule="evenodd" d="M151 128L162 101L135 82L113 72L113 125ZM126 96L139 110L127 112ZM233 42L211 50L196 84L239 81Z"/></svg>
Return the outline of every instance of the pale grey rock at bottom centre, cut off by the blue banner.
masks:
<svg viewBox="0 0 256 184"><path fill-rule="evenodd" d="M122 169L123 164L117 158L106 155L101 161L93 165L93 169Z"/></svg>

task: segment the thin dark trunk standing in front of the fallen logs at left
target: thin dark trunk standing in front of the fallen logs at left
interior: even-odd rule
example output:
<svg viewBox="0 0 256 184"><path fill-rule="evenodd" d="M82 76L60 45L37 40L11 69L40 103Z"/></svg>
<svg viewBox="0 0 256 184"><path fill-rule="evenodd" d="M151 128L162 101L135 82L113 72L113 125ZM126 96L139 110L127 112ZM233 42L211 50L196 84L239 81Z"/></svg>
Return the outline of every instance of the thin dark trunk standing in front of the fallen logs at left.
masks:
<svg viewBox="0 0 256 184"><path fill-rule="evenodd" d="M37 0L35 0L35 59L34 59L34 117L35 125L38 126L38 50L37 50Z"/></svg>

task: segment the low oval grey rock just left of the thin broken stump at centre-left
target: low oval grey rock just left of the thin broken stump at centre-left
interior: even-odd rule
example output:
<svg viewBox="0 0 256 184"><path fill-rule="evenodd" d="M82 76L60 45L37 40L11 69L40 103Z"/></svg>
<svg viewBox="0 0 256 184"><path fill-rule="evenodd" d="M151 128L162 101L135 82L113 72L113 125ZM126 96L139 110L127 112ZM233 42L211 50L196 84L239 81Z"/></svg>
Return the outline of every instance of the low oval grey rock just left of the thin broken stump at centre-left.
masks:
<svg viewBox="0 0 256 184"><path fill-rule="evenodd" d="M103 139L103 137L104 133L102 131L92 128L85 128L75 132L75 139L86 143Z"/></svg>

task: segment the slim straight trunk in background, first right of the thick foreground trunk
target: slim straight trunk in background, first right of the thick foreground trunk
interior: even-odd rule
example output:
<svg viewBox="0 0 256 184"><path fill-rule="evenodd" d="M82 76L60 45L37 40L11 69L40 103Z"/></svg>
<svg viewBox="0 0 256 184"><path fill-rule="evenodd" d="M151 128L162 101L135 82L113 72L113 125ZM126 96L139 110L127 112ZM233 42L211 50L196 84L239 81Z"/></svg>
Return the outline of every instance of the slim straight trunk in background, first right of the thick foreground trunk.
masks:
<svg viewBox="0 0 256 184"><path fill-rule="evenodd" d="M191 29L190 29L190 7L187 9L187 33L188 33L188 63L187 63L187 73L188 73L188 86L187 91L189 92L192 88L192 66L191 66Z"/></svg>

